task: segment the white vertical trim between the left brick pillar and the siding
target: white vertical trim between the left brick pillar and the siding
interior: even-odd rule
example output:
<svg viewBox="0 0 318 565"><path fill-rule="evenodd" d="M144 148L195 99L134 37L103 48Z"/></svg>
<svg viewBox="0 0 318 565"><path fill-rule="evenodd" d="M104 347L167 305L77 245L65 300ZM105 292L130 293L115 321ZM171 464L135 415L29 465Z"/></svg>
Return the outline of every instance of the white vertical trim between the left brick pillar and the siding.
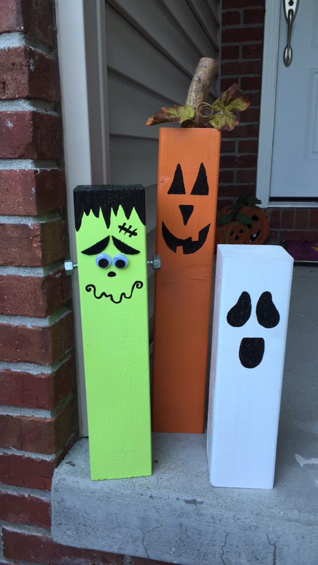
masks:
<svg viewBox="0 0 318 565"><path fill-rule="evenodd" d="M73 189L109 182L104 0L56 0L69 255L76 260ZM87 435L77 273L72 275L80 436Z"/></svg>

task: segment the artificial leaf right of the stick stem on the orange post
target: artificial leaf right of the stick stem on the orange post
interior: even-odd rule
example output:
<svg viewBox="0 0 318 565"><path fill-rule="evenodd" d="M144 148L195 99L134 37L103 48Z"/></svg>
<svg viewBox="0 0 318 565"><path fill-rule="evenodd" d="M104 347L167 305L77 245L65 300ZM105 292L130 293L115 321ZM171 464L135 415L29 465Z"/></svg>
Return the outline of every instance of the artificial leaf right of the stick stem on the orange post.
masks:
<svg viewBox="0 0 318 565"><path fill-rule="evenodd" d="M250 103L238 85L233 84L212 104L213 114L208 123L220 132L230 132L238 124L236 112L246 110Z"/></svg>

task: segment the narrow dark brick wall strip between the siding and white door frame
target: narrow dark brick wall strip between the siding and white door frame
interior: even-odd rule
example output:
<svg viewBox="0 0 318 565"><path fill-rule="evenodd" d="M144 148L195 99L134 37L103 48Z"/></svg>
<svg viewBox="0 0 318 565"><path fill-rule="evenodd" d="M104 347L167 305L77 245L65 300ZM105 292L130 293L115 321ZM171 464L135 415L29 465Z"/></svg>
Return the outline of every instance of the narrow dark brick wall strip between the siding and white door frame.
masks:
<svg viewBox="0 0 318 565"><path fill-rule="evenodd" d="M223 0L221 26L221 92L237 82L251 105L232 132L222 133L219 208L255 194L264 0Z"/></svg>

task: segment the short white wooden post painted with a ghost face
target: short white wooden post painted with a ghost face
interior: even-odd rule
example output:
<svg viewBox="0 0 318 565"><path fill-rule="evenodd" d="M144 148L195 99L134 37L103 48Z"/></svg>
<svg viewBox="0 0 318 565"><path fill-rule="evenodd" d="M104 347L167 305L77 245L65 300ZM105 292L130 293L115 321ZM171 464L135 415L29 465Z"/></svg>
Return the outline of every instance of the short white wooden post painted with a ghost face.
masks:
<svg viewBox="0 0 318 565"><path fill-rule="evenodd" d="M292 270L293 259L280 246L217 248L207 431L214 486L273 487ZM239 305L228 318L243 292L250 316ZM273 307L265 306L263 315L256 308L264 292L271 293L279 321ZM269 318L272 324L264 324ZM246 338L264 340L263 358L255 342L247 355Z"/></svg>

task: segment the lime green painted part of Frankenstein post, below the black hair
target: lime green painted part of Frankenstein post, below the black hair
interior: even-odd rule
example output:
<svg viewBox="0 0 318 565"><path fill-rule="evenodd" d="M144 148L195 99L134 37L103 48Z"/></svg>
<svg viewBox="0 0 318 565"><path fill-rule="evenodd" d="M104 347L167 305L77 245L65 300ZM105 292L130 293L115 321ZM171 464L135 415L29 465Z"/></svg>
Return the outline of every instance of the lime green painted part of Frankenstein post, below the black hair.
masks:
<svg viewBox="0 0 318 565"><path fill-rule="evenodd" d="M124 221L137 228L137 236L119 233ZM95 264L96 255L81 253L108 235L140 251L126 255L126 268L102 269ZM91 211L83 215L76 247L91 476L97 480L151 475L146 229L134 209L129 222L121 206L117 216L112 211L110 229L102 213L95 218ZM111 237L103 253L111 258L120 253ZM108 277L110 271L116 276ZM117 304L85 290L94 284L97 296L105 292L119 301L122 292L129 296L136 280L143 287L134 288L131 299Z"/></svg>

